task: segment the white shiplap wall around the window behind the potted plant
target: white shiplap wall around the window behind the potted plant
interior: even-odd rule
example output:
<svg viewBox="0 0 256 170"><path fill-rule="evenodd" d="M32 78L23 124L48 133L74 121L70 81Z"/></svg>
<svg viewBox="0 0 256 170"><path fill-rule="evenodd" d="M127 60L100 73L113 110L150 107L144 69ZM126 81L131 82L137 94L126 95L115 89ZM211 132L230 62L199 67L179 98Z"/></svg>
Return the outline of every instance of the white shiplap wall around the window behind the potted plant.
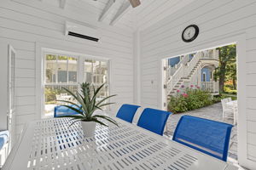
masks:
<svg viewBox="0 0 256 170"><path fill-rule="evenodd" d="M17 52L16 76L16 130L17 134L26 122L38 119L36 111L36 44L49 43L77 49L76 52L111 60L111 92L117 105L133 101L133 47L132 32L100 24L101 42L90 42L64 36L66 20L87 22L86 15L74 14L68 9L50 6L40 1L0 2L0 42L9 42ZM89 18L88 20L91 20ZM90 22L89 22L90 24ZM95 24L95 23L93 23ZM65 50L65 49L63 49ZM5 57L5 56L2 56ZM124 90L125 89L125 90Z"/></svg>

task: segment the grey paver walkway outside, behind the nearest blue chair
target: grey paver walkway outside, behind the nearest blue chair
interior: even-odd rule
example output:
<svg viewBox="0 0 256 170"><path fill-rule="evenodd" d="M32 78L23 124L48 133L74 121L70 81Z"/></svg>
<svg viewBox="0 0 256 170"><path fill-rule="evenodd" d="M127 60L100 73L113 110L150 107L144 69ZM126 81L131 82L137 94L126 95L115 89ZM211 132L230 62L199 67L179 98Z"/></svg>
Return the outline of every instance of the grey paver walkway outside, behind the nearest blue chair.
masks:
<svg viewBox="0 0 256 170"><path fill-rule="evenodd" d="M222 105L221 103L217 103L214 105L210 105L198 110L194 111L187 111L184 113L178 113L178 114L172 114L166 125L166 135L172 136L175 130L175 127L177 126L177 122L179 118L183 115L190 115L190 116L198 116L202 118L211 119L218 122L227 122L232 124L233 119L225 119L223 121L222 119ZM232 128L232 133L230 136L230 150L229 150L229 156L231 158L234 158L237 160L237 125Z"/></svg>

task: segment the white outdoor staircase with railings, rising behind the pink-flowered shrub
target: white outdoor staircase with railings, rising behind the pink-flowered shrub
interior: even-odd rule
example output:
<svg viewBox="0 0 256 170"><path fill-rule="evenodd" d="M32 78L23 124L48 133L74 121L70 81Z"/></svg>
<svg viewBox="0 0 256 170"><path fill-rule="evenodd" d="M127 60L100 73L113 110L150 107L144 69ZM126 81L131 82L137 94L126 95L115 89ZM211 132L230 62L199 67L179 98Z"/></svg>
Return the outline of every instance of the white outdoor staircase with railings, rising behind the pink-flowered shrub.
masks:
<svg viewBox="0 0 256 170"><path fill-rule="evenodd" d="M189 55L184 55L177 65L169 66L166 69L165 88L167 96L177 94L177 90L182 92L190 85L205 86L202 88L209 91L218 89L218 82L201 82L201 68L205 65L205 61L211 65L218 65L218 53L213 51L212 54L212 51L198 52L194 54L192 59Z"/></svg>

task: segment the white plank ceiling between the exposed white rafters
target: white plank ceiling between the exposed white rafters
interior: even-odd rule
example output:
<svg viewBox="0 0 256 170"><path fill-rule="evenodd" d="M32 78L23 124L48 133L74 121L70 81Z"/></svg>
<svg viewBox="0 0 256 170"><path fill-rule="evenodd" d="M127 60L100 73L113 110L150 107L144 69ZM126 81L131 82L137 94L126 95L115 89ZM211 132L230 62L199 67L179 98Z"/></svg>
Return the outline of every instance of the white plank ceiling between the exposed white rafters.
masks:
<svg viewBox="0 0 256 170"><path fill-rule="evenodd" d="M40 1L60 7L61 0ZM102 22L109 25L125 1L128 0L116 0L113 8L111 8L111 11ZM137 8L128 8L125 14L113 26L132 30L143 30L148 26L154 25L157 21L166 18L166 16L174 14L178 9L183 8L193 1L195 0L141 0L142 4L140 6ZM64 10L72 10L73 12L98 20L107 3L108 0L66 0Z"/></svg>

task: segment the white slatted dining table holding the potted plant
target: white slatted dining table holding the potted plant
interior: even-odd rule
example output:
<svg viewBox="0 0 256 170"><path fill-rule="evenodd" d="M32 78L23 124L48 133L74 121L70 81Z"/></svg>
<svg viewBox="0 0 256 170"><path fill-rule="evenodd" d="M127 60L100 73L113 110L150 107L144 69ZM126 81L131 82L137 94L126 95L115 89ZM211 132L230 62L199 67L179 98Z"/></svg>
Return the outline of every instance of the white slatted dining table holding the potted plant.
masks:
<svg viewBox="0 0 256 170"><path fill-rule="evenodd" d="M115 118L85 138L68 118L29 123L3 170L235 170L237 167Z"/></svg>

